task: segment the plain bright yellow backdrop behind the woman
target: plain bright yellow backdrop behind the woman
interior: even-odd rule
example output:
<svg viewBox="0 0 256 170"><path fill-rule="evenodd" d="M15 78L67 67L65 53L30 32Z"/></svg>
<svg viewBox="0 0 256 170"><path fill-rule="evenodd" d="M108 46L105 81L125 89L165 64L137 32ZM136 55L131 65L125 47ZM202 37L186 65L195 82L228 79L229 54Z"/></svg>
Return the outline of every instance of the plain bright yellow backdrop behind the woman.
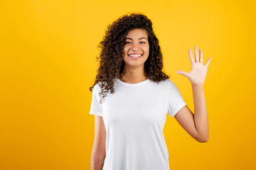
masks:
<svg viewBox="0 0 256 170"><path fill-rule="evenodd" d="M128 12L153 22L164 71L193 111L188 48L211 57L204 85L210 137L169 115L170 169L256 169L255 1L1 1L0 169L90 169L89 115L107 25ZM194 50L193 50L194 52Z"/></svg>

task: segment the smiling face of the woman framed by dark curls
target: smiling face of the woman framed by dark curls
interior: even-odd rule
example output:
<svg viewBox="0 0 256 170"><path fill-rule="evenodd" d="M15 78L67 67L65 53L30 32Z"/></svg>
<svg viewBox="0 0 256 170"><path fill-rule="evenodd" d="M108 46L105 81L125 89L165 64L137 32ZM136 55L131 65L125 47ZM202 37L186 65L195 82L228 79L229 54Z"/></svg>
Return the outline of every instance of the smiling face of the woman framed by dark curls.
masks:
<svg viewBox="0 0 256 170"><path fill-rule="evenodd" d="M149 40L146 30L135 28L129 30L125 38L123 48L123 60L125 65L142 66L149 57Z"/></svg>

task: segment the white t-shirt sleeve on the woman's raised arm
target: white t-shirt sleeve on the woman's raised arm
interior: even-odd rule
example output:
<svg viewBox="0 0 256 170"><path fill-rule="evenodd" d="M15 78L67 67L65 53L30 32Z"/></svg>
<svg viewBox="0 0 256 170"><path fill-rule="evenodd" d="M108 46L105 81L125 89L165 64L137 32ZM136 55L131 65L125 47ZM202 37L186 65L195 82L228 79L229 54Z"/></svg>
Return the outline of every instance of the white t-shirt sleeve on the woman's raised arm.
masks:
<svg viewBox="0 0 256 170"><path fill-rule="evenodd" d="M178 91L178 88L171 80L169 80L168 95L167 113L171 115L171 117L174 117L183 106L186 106L186 103L181 96L181 92Z"/></svg>

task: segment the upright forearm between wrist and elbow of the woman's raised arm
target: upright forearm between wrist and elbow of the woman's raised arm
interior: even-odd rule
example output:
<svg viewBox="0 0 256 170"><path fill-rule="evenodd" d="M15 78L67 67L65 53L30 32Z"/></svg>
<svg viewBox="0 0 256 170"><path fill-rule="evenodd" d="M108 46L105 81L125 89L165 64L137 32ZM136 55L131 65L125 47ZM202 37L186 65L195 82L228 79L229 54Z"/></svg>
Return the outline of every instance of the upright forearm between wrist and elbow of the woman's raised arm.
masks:
<svg viewBox="0 0 256 170"><path fill-rule="evenodd" d="M194 121L199 137L207 142L209 137L208 115L203 85L192 85L194 103Z"/></svg>

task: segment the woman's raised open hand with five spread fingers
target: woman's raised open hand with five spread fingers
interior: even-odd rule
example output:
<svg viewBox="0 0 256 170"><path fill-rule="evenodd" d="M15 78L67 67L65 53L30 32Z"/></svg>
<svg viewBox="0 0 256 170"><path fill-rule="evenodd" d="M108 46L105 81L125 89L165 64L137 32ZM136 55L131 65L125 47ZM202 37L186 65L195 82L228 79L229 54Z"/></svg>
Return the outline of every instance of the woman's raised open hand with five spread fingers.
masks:
<svg viewBox="0 0 256 170"><path fill-rule="evenodd" d="M210 57L208 58L206 65L203 65L203 50L200 49L200 58L199 58L197 46L195 46L196 62L193 57L191 49L188 49L188 54L191 60L191 72L183 72L178 70L176 73L187 77L192 85L203 86L204 81L206 79L207 68L208 68L208 65L210 64Z"/></svg>

